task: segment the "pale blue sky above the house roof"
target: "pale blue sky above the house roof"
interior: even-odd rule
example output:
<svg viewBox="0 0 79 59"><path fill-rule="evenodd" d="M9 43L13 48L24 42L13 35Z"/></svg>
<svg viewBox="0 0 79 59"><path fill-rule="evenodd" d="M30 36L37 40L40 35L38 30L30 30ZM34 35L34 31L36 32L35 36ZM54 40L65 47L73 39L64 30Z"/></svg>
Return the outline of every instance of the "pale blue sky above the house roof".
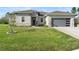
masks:
<svg viewBox="0 0 79 59"><path fill-rule="evenodd" d="M0 18L7 12L21 11L21 10L38 10L38 11L71 11L71 7L0 7Z"/></svg>

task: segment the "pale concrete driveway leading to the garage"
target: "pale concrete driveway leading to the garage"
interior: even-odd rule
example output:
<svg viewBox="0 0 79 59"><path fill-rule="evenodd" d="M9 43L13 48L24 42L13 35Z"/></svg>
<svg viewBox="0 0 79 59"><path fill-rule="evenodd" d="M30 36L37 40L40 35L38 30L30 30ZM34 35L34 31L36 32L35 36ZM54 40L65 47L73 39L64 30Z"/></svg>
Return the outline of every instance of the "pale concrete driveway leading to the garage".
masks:
<svg viewBox="0 0 79 59"><path fill-rule="evenodd" d="M74 38L79 39L79 27L54 27L58 31L64 32Z"/></svg>

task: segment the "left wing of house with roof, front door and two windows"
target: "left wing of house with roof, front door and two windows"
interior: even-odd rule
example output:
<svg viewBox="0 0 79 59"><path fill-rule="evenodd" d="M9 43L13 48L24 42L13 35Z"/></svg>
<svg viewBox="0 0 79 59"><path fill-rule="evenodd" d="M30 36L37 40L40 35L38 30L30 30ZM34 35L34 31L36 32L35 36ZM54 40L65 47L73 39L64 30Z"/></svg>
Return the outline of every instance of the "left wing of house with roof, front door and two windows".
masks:
<svg viewBox="0 0 79 59"><path fill-rule="evenodd" d="M41 26L45 23L45 14L35 10L13 12L9 15L9 23L15 20L16 26Z"/></svg>

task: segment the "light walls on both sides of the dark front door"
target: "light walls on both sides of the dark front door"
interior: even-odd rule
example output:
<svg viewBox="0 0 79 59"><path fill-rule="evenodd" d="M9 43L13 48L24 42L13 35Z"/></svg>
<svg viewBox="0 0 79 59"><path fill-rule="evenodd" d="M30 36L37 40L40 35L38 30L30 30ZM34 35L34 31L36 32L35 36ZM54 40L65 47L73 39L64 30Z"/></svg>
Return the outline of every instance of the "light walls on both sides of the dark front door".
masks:
<svg viewBox="0 0 79 59"><path fill-rule="evenodd" d="M22 17L24 17L24 22L22 22ZM16 26L32 26L32 18L36 17L36 25L44 25L45 18L44 16L38 16L37 14L30 15L30 14L16 14L15 21ZM41 22L41 18L43 22Z"/></svg>

